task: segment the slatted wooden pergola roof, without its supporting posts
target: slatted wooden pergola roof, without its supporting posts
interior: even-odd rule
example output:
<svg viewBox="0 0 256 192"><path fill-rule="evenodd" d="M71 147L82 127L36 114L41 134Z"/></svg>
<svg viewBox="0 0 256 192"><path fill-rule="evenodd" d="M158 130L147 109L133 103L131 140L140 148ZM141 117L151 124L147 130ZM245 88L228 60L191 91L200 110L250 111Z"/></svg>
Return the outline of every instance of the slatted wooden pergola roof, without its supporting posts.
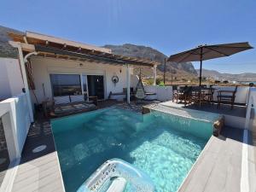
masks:
<svg viewBox="0 0 256 192"><path fill-rule="evenodd" d="M35 32L26 32L26 35L9 33L9 37L15 42L20 42L24 52L37 51L39 56L55 57L61 59L96 61L113 65L135 65L143 67L154 67L159 62L132 58L123 55L111 54L110 49L96 47L55 38Z"/></svg>

